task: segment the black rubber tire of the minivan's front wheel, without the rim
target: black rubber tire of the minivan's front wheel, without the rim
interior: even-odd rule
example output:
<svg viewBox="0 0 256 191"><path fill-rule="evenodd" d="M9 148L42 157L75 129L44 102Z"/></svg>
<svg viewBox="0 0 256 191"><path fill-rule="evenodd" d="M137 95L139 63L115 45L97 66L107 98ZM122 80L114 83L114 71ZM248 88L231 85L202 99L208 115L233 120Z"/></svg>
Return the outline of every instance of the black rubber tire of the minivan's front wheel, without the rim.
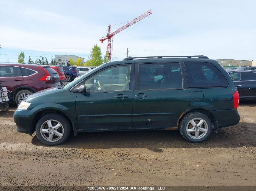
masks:
<svg viewBox="0 0 256 191"><path fill-rule="evenodd" d="M63 128L64 128L64 134L62 136L61 139L59 139L58 141L55 141L55 142L48 142L47 140L45 140L42 135L41 135L41 132L40 132L40 128L41 128L41 125L47 121L47 120L50 120L50 119L53 119L53 120L56 120L58 121L59 123L62 124ZM47 114L45 116L43 116L39 121L38 123L36 124L36 127L35 127L35 132L36 132L36 136L38 138L38 140L40 142L42 142L43 144L45 145L49 145L49 146L52 146L52 145L60 145L62 144L63 142L65 142L70 134L70 131L71 131L71 125L69 123L69 121L67 119L65 119L64 116L60 115L60 114L57 114L57 113L51 113L51 114Z"/></svg>

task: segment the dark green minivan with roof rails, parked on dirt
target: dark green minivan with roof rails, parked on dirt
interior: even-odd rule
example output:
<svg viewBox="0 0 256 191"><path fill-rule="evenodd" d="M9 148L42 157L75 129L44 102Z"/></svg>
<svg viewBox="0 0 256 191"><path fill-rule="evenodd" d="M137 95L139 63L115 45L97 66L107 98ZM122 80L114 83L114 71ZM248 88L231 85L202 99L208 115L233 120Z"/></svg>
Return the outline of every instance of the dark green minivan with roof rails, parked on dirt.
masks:
<svg viewBox="0 0 256 191"><path fill-rule="evenodd" d="M45 145L70 132L179 130L203 142L240 120L237 88L206 56L128 57L74 81L26 97L14 112L17 131Z"/></svg>

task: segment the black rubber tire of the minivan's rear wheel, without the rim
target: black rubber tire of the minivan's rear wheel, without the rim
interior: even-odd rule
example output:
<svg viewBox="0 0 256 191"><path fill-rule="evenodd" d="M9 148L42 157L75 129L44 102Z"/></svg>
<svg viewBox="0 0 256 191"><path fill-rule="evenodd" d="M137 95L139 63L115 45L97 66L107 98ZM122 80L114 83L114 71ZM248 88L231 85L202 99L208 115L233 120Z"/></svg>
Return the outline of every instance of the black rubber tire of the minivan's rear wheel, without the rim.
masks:
<svg viewBox="0 0 256 191"><path fill-rule="evenodd" d="M201 139L193 139L191 138L188 134L187 134L187 125L189 123L190 120L194 119L194 118L201 118L204 119L204 121L207 123L208 125L208 132L206 133L206 135L204 135L204 137L202 137ZM204 115L203 113L200 112L191 112L186 114L185 116L183 116L183 118L181 119L181 123L180 123L180 132L181 135L188 141L188 142L192 142L192 143L200 143L200 142L204 142L205 140L207 140L212 132L212 124L211 124L211 120Z"/></svg>

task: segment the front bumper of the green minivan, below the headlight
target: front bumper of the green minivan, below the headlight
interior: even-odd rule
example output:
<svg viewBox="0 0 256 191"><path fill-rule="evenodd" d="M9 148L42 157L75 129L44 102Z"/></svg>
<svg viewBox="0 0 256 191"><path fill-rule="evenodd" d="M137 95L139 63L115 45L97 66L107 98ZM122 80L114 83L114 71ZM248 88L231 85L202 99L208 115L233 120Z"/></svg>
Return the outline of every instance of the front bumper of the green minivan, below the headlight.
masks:
<svg viewBox="0 0 256 191"><path fill-rule="evenodd" d="M22 113L24 113L23 111L26 110L22 110ZM16 123L16 131L32 135L35 131L32 126L33 116L18 116L17 112L19 112L19 110L16 110L13 114L13 120Z"/></svg>

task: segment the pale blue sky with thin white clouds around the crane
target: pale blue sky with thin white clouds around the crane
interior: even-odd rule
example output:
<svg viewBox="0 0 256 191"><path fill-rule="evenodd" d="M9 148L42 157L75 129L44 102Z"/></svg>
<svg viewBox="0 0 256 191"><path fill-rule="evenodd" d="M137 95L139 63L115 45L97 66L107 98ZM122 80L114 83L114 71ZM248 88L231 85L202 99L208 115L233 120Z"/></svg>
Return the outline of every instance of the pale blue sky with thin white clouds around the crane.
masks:
<svg viewBox="0 0 256 191"><path fill-rule="evenodd" d="M211 59L256 60L256 1L0 1L0 62L55 54L88 58L99 39L151 9L114 37L112 60L126 56L204 54Z"/></svg>

